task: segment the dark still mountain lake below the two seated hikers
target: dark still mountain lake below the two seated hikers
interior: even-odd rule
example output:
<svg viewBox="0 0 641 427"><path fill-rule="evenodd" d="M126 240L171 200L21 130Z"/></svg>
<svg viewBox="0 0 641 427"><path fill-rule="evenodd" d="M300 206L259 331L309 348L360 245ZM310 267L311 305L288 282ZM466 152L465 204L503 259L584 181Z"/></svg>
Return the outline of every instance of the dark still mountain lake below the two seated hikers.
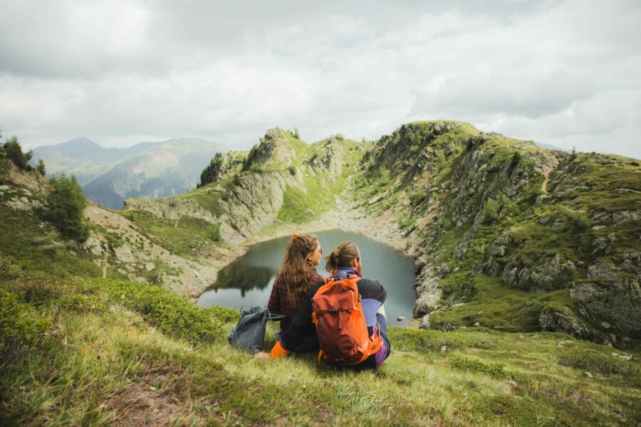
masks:
<svg viewBox="0 0 641 427"><path fill-rule="evenodd" d="M370 238L340 230L318 231L324 254L318 274L325 277L325 255L338 243L356 243L363 256L363 277L378 280L387 290L387 322L389 325L407 326L412 320L412 307L416 300L414 292L414 261ZM199 307L220 305L239 309L244 304L266 305L273 280L283 262L290 237L276 238L249 246L249 251L220 270L218 279L198 299ZM404 316L405 320L396 319Z"/></svg>

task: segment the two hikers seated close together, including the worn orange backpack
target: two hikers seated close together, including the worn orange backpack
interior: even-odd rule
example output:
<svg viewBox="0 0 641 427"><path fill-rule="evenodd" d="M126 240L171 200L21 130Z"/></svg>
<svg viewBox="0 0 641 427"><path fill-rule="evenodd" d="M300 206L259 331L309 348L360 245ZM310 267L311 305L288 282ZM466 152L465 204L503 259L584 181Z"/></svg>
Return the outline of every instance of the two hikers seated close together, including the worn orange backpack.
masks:
<svg viewBox="0 0 641 427"><path fill-rule="evenodd" d="M354 243L340 243L325 257L331 275L324 280L315 268L322 254L316 236L292 236L267 305L286 318L271 353L256 357L277 359L320 347L319 363L379 367L390 355L387 292L377 280L362 277Z"/></svg>

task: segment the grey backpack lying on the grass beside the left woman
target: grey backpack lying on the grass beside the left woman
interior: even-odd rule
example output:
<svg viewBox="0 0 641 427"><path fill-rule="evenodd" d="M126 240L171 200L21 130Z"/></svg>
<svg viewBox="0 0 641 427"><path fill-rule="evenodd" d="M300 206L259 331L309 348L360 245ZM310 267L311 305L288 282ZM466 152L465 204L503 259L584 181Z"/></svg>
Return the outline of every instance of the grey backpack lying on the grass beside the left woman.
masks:
<svg viewBox="0 0 641 427"><path fill-rule="evenodd" d="M240 310L238 325L229 332L229 344L244 349L250 353L261 352L265 347L265 325L271 321L271 327L276 333L273 320L282 319L284 315L271 315L267 307L243 305Z"/></svg>

